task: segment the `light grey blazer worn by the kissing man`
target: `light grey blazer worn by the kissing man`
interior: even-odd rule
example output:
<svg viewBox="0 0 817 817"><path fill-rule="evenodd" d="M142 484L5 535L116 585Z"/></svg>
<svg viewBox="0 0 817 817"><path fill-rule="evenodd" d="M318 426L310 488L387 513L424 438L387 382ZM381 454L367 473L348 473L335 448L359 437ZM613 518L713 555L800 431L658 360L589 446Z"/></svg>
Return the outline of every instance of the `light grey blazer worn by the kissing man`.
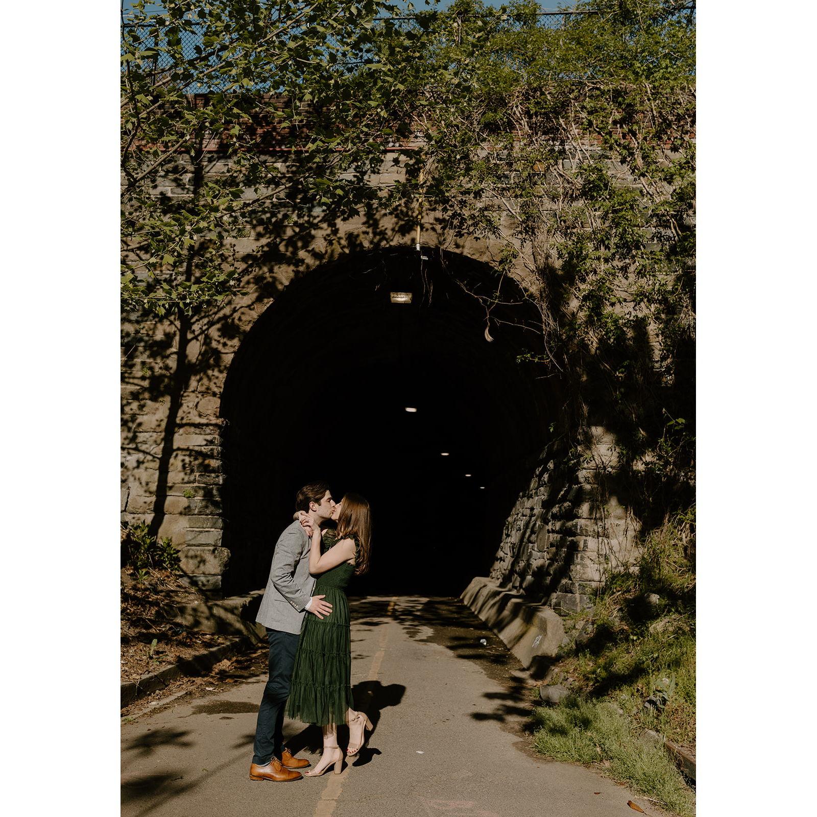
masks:
<svg viewBox="0 0 817 817"><path fill-rule="evenodd" d="M295 520L275 544L264 598L256 621L270 630L299 634L312 597L315 578L309 572L310 539Z"/></svg>

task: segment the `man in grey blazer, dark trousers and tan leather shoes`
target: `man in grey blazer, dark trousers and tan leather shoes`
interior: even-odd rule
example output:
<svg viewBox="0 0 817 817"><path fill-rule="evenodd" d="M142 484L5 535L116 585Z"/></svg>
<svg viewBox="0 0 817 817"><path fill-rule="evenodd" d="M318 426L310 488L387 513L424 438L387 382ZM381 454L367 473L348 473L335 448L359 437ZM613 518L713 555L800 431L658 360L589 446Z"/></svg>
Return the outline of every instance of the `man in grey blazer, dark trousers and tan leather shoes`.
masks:
<svg viewBox="0 0 817 817"><path fill-rule="evenodd" d="M335 503L325 482L305 485L297 493L297 511L306 511L313 525L332 516ZM258 708L250 779L281 783L301 778L296 771L309 761L292 754L283 745L283 708L289 697L289 681L298 646L301 624L308 611L324 618L332 605L324 596L312 596L315 578L309 572L310 538L299 521L284 529L275 544L264 598L256 621L266 627L270 641L270 677Z"/></svg>

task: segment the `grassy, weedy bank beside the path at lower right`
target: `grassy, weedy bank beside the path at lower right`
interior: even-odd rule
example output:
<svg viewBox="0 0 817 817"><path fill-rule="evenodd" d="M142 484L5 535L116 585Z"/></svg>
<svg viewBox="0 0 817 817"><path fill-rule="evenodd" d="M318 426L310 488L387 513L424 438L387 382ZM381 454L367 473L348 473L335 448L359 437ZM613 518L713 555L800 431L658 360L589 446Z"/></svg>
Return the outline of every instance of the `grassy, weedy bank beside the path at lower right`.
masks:
<svg viewBox="0 0 817 817"><path fill-rule="evenodd" d="M572 620L575 644L551 682L571 695L539 708L538 751L598 764L680 815L694 798L661 743L695 745L694 507L645 540L632 572L615 574L592 610Z"/></svg>

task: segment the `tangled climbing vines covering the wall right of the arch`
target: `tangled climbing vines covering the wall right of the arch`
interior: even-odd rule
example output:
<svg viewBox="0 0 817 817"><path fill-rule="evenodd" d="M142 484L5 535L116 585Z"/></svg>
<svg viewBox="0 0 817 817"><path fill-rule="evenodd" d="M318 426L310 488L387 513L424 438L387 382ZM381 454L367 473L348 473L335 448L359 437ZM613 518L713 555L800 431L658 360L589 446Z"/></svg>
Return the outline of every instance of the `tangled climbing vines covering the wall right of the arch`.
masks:
<svg viewBox="0 0 817 817"><path fill-rule="evenodd" d="M539 324L520 358L559 393L557 432L614 433L648 528L694 484L693 5L456 0L417 16L420 55L388 30L374 45L407 66L421 136L384 200L497 248L493 292L472 292L489 329L525 277Z"/></svg>

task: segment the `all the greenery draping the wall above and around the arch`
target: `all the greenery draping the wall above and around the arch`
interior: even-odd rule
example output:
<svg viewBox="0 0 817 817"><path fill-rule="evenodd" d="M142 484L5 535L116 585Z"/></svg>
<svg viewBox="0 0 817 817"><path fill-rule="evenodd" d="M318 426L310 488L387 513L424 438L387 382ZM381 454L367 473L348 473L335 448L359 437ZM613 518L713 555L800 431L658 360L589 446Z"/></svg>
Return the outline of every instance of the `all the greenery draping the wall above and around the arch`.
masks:
<svg viewBox="0 0 817 817"><path fill-rule="evenodd" d="M419 243L490 241L496 278L472 294L496 331L503 281L525 277L520 360L548 378L557 433L614 432L648 529L689 504L694 4L163 7L123 26L122 292L177 322L172 388L190 319L248 283L239 239L262 230L298 266L310 230L377 237L389 218Z"/></svg>

